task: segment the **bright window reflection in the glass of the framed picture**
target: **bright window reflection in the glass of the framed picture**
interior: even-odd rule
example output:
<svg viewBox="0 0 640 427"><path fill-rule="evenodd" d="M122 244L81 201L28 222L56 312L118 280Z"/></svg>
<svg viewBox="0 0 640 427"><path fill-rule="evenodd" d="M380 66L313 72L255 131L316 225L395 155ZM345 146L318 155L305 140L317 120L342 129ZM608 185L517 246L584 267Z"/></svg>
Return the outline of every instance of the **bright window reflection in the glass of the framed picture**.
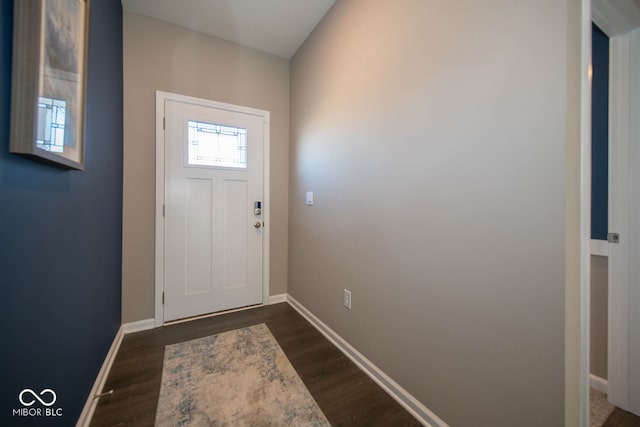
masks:
<svg viewBox="0 0 640 427"><path fill-rule="evenodd" d="M38 129L36 144L43 150L64 152L64 123L66 102L61 99L38 97Z"/></svg>

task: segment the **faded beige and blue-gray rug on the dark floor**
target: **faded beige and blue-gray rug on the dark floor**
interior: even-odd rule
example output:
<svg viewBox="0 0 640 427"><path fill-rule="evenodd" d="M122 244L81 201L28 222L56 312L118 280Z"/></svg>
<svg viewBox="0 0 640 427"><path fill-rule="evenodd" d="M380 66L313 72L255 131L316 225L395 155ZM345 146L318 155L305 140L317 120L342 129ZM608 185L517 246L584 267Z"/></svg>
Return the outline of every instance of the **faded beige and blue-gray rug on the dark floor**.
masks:
<svg viewBox="0 0 640 427"><path fill-rule="evenodd" d="M329 426L265 324L165 347L156 426Z"/></svg>

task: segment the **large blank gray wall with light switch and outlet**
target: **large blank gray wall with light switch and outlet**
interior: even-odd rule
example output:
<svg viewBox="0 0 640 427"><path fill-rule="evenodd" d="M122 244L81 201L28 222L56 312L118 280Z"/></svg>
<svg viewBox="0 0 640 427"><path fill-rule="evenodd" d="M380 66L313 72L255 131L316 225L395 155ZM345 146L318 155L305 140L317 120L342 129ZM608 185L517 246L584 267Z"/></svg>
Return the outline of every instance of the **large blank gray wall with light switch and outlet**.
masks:
<svg viewBox="0 0 640 427"><path fill-rule="evenodd" d="M292 60L289 293L452 426L565 423L579 17L341 1Z"/></svg>

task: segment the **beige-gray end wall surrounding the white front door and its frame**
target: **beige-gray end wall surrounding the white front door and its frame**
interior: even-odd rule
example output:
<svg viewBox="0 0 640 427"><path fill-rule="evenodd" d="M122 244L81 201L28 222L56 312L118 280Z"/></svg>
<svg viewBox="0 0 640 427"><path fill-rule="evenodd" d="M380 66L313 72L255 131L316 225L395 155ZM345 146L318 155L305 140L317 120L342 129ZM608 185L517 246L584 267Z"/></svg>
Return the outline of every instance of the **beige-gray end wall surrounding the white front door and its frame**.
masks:
<svg viewBox="0 0 640 427"><path fill-rule="evenodd" d="M271 112L270 293L287 290L289 62L124 14L122 320L154 317L155 91Z"/></svg>

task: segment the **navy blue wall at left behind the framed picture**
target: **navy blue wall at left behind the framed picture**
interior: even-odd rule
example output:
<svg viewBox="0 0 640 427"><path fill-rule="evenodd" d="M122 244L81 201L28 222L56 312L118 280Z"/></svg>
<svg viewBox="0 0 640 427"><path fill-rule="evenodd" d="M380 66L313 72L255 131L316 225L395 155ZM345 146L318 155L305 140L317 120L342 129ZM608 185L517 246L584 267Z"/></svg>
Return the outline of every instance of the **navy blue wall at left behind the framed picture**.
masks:
<svg viewBox="0 0 640 427"><path fill-rule="evenodd" d="M9 153L13 4L0 0L0 425L71 426L120 327L122 6L91 0L78 172ZM62 417L14 416L25 388L53 389Z"/></svg>

